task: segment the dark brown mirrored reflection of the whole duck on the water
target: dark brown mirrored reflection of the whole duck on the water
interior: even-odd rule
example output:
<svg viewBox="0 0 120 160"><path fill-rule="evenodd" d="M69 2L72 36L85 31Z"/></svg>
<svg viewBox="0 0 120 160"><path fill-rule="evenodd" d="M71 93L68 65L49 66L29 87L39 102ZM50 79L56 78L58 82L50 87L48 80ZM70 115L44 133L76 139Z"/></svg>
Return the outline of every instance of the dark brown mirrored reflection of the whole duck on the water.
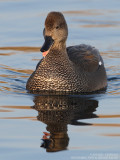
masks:
<svg viewBox="0 0 120 160"><path fill-rule="evenodd" d="M67 125L91 125L79 119L97 117L93 112L98 101L79 96L35 96L33 108L38 111L37 119L47 125L43 132L41 147L47 152L66 150L69 144Z"/></svg>

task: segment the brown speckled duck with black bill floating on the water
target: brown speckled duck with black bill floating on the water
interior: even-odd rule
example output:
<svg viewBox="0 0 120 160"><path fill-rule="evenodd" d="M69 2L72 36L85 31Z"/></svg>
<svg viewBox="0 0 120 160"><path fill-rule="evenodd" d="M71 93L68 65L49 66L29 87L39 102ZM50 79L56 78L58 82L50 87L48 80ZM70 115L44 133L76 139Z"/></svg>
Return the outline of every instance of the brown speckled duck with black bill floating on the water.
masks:
<svg viewBox="0 0 120 160"><path fill-rule="evenodd" d="M27 81L28 91L89 93L106 89L100 52L86 44L66 47L68 26L61 12L48 13L43 36L43 58Z"/></svg>

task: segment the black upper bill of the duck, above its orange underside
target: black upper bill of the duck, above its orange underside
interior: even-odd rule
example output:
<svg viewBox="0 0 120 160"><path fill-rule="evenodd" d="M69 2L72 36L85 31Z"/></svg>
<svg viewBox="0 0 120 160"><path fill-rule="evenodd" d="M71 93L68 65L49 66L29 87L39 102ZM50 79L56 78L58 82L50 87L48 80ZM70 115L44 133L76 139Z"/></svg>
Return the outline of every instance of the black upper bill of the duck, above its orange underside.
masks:
<svg viewBox="0 0 120 160"><path fill-rule="evenodd" d="M43 46L41 47L40 51L41 52L46 52L50 49L50 47L53 45L54 40L52 39L51 36L45 36L45 42Z"/></svg>

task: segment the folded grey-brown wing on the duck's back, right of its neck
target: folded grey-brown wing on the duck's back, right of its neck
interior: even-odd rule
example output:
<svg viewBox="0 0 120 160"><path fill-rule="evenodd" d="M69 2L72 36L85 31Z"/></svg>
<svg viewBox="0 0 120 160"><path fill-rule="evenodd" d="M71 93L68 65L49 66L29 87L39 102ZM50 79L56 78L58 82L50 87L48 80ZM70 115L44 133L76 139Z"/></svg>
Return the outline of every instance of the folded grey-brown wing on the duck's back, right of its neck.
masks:
<svg viewBox="0 0 120 160"><path fill-rule="evenodd" d="M103 65L102 57L99 51L90 45L76 45L67 47L69 59L87 72L95 72L101 65Z"/></svg>

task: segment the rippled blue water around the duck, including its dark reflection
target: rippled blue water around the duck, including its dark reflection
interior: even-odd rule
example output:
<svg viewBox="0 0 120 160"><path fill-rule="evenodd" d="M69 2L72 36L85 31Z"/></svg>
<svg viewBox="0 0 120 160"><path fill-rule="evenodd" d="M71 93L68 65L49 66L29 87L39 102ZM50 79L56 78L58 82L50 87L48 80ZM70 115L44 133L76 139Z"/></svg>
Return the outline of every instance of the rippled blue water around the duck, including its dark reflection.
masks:
<svg viewBox="0 0 120 160"><path fill-rule="evenodd" d="M68 46L85 43L100 50L106 93L27 93L26 81L42 58L44 20L53 10L65 15ZM119 0L0 0L1 160L120 159L119 17Z"/></svg>

